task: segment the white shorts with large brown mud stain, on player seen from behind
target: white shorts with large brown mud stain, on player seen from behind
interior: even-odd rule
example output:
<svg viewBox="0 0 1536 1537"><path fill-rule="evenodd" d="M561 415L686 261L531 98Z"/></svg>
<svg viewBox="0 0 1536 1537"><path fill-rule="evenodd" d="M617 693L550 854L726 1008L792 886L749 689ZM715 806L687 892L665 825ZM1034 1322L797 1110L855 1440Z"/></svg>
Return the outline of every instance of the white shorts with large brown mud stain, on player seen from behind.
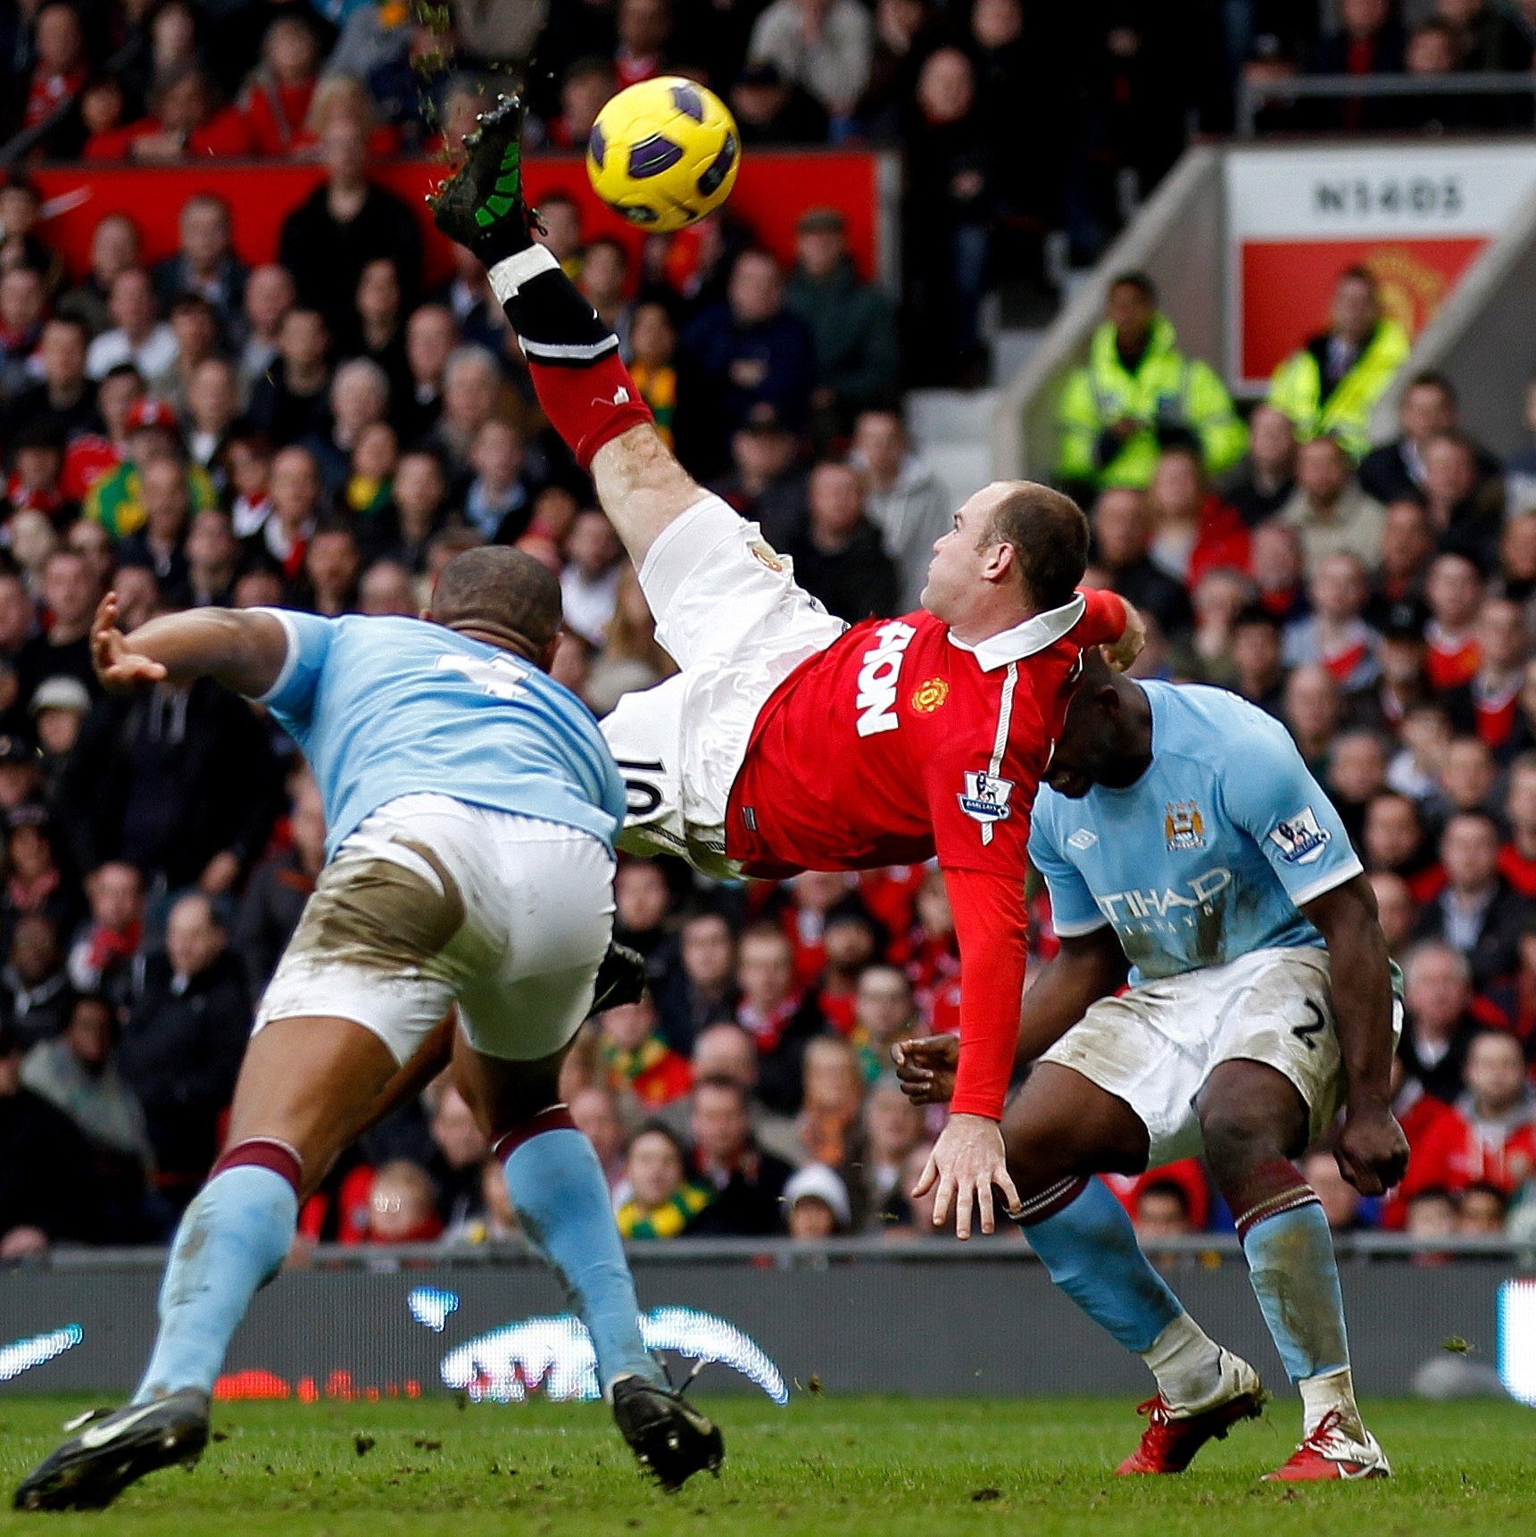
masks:
<svg viewBox="0 0 1536 1537"><path fill-rule="evenodd" d="M590 833L446 795L374 812L320 871L255 1028L331 1016L404 1064L458 1004L486 1056L552 1056L581 1028L613 930Z"/></svg>

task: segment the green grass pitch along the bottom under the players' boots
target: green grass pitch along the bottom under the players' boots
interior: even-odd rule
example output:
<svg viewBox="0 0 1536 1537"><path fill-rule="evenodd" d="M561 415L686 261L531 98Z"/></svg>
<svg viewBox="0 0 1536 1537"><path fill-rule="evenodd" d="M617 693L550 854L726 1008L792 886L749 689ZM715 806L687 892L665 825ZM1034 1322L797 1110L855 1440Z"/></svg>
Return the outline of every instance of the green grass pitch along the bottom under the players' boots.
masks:
<svg viewBox="0 0 1536 1537"><path fill-rule="evenodd" d="M1530 1531L1536 1413L1513 1403L1371 1403L1398 1476L1284 1488L1299 1405L1281 1399L1172 1479L1115 1479L1139 1420L1105 1400L704 1400L726 1434L716 1482L641 1482L597 1405L218 1406L201 1466L154 1474L105 1515L15 1515L9 1491L81 1405L0 1400L0 1531L200 1537L1407 1537Z"/></svg>

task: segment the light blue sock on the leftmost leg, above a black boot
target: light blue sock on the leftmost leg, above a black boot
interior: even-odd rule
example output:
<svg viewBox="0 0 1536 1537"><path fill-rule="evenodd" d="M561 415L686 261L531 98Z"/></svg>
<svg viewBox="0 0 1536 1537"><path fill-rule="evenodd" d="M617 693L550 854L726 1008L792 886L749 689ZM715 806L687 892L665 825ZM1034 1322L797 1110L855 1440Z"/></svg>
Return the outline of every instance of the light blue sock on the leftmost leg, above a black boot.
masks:
<svg viewBox="0 0 1536 1537"><path fill-rule="evenodd" d="M294 1242L298 1197L281 1174L241 1164L186 1208L160 1286L160 1334L134 1403L178 1388L214 1391L231 1336Z"/></svg>

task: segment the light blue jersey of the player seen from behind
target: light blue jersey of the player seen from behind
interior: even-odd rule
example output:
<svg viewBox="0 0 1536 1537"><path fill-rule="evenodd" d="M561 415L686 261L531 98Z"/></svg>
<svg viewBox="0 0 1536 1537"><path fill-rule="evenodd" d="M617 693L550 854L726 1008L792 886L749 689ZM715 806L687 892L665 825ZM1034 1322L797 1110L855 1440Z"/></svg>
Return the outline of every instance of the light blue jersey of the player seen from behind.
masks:
<svg viewBox="0 0 1536 1537"><path fill-rule="evenodd" d="M532 662L421 619L263 612L288 661L261 702L315 772L327 855L386 801L423 793L612 847L624 782L586 705Z"/></svg>

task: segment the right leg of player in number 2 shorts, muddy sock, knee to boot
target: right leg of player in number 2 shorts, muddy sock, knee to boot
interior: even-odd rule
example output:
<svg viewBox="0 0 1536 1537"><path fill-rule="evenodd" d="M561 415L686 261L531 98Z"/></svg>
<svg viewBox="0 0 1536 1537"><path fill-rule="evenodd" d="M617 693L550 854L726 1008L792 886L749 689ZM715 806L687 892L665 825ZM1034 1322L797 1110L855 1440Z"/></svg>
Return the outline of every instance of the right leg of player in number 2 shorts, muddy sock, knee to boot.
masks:
<svg viewBox="0 0 1536 1537"><path fill-rule="evenodd" d="M1219 1064L1196 1102L1205 1156L1238 1223L1248 1274L1301 1389L1302 1440L1270 1479L1379 1479L1391 1469L1355 1402L1333 1236L1290 1159L1307 1142L1296 1087L1262 1062Z"/></svg>

